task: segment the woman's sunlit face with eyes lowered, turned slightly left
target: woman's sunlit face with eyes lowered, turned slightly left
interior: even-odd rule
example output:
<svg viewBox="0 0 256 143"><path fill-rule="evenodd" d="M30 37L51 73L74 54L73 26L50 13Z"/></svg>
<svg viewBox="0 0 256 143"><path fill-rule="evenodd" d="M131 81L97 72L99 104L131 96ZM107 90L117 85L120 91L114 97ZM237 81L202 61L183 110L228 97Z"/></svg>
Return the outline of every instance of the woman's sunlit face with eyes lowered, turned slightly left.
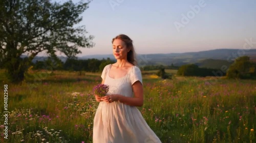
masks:
<svg viewBox="0 0 256 143"><path fill-rule="evenodd" d="M113 54L116 60L127 59L127 52L130 50L126 47L125 43L120 39L115 39L113 42Z"/></svg>

